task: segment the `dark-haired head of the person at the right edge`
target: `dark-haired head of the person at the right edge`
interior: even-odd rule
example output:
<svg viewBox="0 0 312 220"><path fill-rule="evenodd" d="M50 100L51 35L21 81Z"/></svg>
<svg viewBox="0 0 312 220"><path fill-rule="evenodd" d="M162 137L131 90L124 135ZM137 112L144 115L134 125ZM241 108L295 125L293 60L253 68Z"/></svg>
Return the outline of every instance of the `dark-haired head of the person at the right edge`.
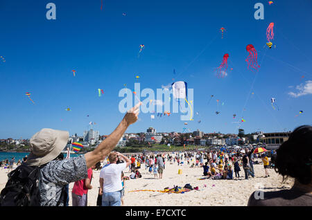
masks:
<svg viewBox="0 0 312 220"><path fill-rule="evenodd" d="M286 180L288 176L296 178L302 184L311 183L312 163L312 127L297 127L277 149L275 171Z"/></svg>

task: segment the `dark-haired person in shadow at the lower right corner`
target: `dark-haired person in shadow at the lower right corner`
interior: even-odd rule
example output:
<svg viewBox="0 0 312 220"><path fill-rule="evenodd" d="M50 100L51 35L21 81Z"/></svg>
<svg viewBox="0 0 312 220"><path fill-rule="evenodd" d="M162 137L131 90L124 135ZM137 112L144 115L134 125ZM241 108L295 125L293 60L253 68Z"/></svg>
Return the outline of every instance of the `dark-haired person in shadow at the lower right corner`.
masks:
<svg viewBox="0 0 312 220"><path fill-rule="evenodd" d="M290 190L256 191L248 206L312 206L312 127L297 127L277 149L275 172L295 178Z"/></svg>

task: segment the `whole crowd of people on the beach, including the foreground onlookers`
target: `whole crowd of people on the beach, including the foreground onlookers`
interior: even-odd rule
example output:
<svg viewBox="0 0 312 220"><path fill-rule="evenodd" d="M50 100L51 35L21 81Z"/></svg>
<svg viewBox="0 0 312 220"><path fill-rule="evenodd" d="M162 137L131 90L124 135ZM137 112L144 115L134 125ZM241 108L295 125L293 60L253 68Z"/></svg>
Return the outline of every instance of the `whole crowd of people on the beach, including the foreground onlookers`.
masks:
<svg viewBox="0 0 312 220"><path fill-rule="evenodd" d="M101 161L108 159L103 164L100 173L100 189L98 190L98 205L118 206L123 204L125 179L141 178L139 169L145 164L145 169L155 178L163 178L166 160L178 166L202 167L203 175L211 179L232 179L240 177L241 168L244 170L245 179L254 178L254 163L259 163L261 158L265 178L270 177L268 168L274 167L275 171L283 178L295 178L291 190L266 192L263 199L254 199L252 194L248 205L312 205L311 203L311 146L312 127L305 125L298 127L268 160L266 153L253 154L252 149L239 151L217 150L207 152L175 152L172 154L139 154L131 157L112 152L125 130L137 121L139 104L125 114L116 129L92 152L64 158L62 150L67 145L69 133L54 129L42 129L30 140L31 153L19 165L15 172L9 175L6 187L1 191L0 205L41 205L41 206L66 206L69 203L69 183L74 183L72 205L87 205L87 192L92 189L93 169L101 169ZM205 161L206 160L206 161ZM14 158L12 158L14 164ZM5 161L10 165L9 161ZM130 176L125 176L124 170L130 168ZM28 176L39 184L25 185L15 176ZM30 174L35 174L31 176ZM258 174L257 174L258 175ZM31 177L30 177L31 176ZM40 176L40 178L39 178ZM31 199L24 197L26 193L19 189L33 192ZM33 187L33 188L30 188ZM26 189L27 188L27 189ZM53 197L51 198L51 192ZM19 198L19 199L14 199Z"/></svg>

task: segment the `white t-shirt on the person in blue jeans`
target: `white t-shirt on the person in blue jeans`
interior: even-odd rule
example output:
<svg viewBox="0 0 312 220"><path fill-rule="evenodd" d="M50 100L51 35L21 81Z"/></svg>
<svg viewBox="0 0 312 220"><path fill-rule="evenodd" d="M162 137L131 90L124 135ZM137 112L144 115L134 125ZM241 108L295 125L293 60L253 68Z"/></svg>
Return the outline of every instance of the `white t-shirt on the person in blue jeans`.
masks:
<svg viewBox="0 0 312 220"><path fill-rule="evenodd" d="M125 163L110 163L101 169L100 178L104 179L103 192L116 192L123 189L121 185L121 172L125 167Z"/></svg>

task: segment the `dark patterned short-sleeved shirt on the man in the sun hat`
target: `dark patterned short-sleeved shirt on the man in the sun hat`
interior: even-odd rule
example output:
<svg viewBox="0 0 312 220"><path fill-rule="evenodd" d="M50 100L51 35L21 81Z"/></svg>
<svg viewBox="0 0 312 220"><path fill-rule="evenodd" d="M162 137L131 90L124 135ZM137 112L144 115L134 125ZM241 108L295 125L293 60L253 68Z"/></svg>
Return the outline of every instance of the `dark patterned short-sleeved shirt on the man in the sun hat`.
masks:
<svg viewBox="0 0 312 220"><path fill-rule="evenodd" d="M64 185L87 177L87 163L84 155L49 162L41 169L41 206L56 206ZM62 205L63 201L60 201L60 206Z"/></svg>

